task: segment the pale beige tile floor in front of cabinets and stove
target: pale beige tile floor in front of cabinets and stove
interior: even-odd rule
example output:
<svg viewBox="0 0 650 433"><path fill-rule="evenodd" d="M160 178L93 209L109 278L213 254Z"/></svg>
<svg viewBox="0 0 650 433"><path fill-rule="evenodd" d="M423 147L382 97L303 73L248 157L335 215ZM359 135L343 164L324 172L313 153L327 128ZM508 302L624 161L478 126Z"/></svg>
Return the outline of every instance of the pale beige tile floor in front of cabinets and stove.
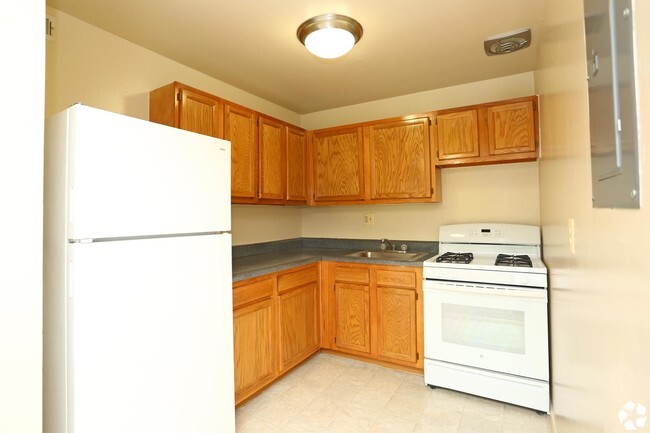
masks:
<svg viewBox="0 0 650 433"><path fill-rule="evenodd" d="M237 409L237 433L549 433L546 415L318 354Z"/></svg>

